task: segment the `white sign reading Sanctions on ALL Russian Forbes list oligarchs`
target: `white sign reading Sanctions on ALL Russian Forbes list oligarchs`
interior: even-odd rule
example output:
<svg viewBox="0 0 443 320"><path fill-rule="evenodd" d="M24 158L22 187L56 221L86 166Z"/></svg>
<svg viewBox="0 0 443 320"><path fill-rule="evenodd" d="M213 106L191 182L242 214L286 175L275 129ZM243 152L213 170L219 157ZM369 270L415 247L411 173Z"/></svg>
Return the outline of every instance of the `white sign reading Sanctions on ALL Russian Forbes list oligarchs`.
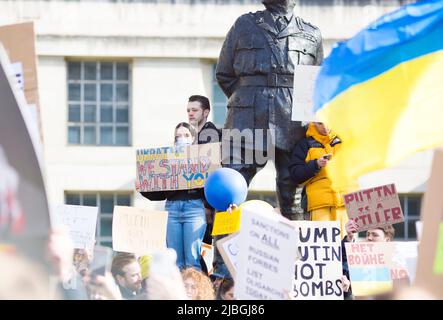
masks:
<svg viewBox="0 0 443 320"><path fill-rule="evenodd" d="M238 299L287 299L294 277L297 233L272 209L242 214L235 296ZM286 293L285 293L286 292Z"/></svg>

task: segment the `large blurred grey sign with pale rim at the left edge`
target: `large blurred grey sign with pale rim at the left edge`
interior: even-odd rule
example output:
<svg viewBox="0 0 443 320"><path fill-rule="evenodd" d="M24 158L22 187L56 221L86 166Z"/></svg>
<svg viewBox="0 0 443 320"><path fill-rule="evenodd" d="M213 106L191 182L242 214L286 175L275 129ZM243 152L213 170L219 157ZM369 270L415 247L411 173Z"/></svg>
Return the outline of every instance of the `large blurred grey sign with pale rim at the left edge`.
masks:
<svg viewBox="0 0 443 320"><path fill-rule="evenodd" d="M41 142L32 134L24 111L27 104L17 91L10 68L10 60L0 45L0 146L2 163L15 176L9 191L0 191L0 197L7 196L15 203L12 210L0 214L0 242L16 245L19 252L46 264L50 218L43 161L38 152ZM5 215L12 220L4 220ZM11 223L13 220L15 223Z"/></svg>

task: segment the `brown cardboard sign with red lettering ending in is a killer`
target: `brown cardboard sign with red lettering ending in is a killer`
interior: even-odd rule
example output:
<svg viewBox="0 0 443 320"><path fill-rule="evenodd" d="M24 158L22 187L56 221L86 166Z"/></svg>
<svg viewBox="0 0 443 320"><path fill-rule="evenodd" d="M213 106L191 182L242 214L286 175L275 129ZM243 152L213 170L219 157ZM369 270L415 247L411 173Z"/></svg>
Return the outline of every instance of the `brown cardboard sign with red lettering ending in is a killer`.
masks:
<svg viewBox="0 0 443 320"><path fill-rule="evenodd" d="M394 184L360 190L344 195L349 219L365 231L404 221Z"/></svg>

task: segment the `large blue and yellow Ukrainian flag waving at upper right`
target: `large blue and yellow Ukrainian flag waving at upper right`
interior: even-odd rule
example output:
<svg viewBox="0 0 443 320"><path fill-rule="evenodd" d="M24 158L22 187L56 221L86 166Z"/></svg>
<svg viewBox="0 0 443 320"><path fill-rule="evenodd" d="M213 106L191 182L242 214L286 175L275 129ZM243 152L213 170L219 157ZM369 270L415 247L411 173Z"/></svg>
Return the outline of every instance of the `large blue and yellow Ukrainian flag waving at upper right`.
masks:
<svg viewBox="0 0 443 320"><path fill-rule="evenodd" d="M343 141L328 165L338 189L442 145L443 0L401 7L336 45L314 110Z"/></svg>

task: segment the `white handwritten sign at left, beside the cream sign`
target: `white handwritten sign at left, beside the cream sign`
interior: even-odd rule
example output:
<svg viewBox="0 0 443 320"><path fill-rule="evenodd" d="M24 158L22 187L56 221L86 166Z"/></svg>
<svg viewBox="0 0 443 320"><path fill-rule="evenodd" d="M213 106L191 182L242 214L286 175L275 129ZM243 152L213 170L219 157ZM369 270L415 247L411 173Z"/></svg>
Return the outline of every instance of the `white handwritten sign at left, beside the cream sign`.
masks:
<svg viewBox="0 0 443 320"><path fill-rule="evenodd" d="M98 207L58 205L53 212L53 225L69 228L74 248L92 250L95 241Z"/></svg>

